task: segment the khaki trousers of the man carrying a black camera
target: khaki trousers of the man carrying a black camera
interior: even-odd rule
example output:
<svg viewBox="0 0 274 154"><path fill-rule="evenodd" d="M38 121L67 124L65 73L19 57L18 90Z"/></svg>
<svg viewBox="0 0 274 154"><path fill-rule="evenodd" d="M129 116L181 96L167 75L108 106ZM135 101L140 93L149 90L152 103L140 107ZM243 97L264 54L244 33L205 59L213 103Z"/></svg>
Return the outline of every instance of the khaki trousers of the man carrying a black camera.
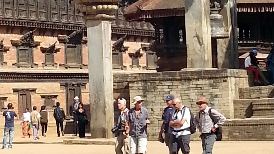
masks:
<svg viewBox="0 0 274 154"><path fill-rule="evenodd" d="M120 132L116 138L115 152L116 154L123 154L122 148L124 146L125 154L130 154L129 135L126 139L123 139L123 134Z"/></svg>

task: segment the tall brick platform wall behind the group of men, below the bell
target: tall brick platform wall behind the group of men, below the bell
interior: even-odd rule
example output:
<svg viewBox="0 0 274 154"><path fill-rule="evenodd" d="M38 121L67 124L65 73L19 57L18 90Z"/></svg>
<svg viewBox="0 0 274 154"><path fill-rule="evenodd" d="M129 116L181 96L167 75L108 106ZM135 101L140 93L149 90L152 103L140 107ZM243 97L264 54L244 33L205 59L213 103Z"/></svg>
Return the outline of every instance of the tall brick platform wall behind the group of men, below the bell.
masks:
<svg viewBox="0 0 274 154"><path fill-rule="evenodd" d="M238 87L248 86L246 71L232 69L128 74L125 77L114 76L114 80L129 82L130 102L136 95L144 98L143 106L151 116L149 140L156 140L158 137L162 124L160 117L166 107L164 98L168 94L179 97L194 114L198 111L195 101L200 95L204 95L209 100L209 106L216 108L227 118L234 118L233 100L239 97ZM193 138L197 139L197 135Z"/></svg>

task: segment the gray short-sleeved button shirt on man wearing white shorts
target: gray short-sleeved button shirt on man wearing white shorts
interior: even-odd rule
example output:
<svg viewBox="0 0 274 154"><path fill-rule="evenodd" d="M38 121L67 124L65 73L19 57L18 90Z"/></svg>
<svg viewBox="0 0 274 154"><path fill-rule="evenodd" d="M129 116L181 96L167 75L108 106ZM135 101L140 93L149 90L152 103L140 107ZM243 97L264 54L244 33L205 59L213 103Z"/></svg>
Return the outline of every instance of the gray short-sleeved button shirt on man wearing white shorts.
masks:
<svg viewBox="0 0 274 154"><path fill-rule="evenodd" d="M136 138L147 138L146 120L150 119L146 108L141 108L140 113L136 117L136 110L132 108L128 112L129 135Z"/></svg>

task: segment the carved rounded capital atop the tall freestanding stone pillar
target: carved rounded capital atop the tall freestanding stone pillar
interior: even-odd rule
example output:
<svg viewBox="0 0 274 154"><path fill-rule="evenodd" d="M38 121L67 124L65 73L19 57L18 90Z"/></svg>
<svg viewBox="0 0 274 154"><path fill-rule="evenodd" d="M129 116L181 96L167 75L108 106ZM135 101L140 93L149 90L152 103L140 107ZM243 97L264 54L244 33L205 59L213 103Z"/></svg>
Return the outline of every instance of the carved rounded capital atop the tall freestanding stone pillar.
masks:
<svg viewBox="0 0 274 154"><path fill-rule="evenodd" d="M80 4L80 11L84 13L86 20L113 20L114 15L110 15L118 9L121 0L75 0Z"/></svg>

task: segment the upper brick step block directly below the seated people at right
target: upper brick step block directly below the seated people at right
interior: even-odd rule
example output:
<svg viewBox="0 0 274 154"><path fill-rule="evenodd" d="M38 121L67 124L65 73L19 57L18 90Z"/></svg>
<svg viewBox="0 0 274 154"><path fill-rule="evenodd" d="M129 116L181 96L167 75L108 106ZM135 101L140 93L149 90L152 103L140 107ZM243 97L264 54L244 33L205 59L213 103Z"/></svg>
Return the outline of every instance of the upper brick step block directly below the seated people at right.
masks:
<svg viewBox="0 0 274 154"><path fill-rule="evenodd" d="M273 98L274 86L255 86L239 88L240 99Z"/></svg>

